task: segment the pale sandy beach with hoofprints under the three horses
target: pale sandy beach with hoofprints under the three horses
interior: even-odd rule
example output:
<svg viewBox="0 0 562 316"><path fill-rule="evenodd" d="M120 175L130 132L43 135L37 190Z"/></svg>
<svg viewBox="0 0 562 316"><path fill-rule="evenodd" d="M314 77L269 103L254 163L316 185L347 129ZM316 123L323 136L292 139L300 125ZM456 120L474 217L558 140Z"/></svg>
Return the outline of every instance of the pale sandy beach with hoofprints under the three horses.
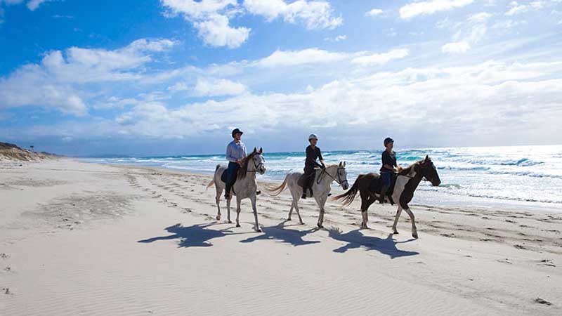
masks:
<svg viewBox="0 0 562 316"><path fill-rule="evenodd" d="M285 223L285 192L256 233L249 201L216 223L209 176L19 165L0 162L0 315L562 315L560 213L418 206L415 240L393 206L358 230L358 200L328 230L311 200Z"/></svg>

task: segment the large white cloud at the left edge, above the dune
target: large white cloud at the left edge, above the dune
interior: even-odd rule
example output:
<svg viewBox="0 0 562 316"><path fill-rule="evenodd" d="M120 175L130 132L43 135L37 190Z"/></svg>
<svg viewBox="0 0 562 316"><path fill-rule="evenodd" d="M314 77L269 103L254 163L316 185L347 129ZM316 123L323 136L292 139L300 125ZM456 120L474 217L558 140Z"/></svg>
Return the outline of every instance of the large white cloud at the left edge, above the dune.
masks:
<svg viewBox="0 0 562 316"><path fill-rule="evenodd" d="M0 108L36 105L82 116L87 111L81 84L123 81L141 77L142 67L174 45L168 39L133 41L115 51L71 47L51 51L40 64L20 67L0 78Z"/></svg>

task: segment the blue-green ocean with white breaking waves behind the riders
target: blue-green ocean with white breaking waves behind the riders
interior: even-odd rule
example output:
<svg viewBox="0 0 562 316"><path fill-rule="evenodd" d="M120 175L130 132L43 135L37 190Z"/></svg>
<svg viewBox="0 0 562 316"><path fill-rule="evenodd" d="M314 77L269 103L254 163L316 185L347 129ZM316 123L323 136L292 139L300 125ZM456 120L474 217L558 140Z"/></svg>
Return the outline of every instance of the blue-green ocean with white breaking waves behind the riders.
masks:
<svg viewBox="0 0 562 316"><path fill-rule="evenodd" d="M518 147L451 147L396 149L398 164L408 166L426 154L436 165L441 185L422 182L414 204L478 206L501 209L562 211L562 145ZM377 172L381 152L344 150L324 152L327 163L346 161L348 180ZM304 152L265 152L266 174L261 180L280 181L289 171L301 171ZM226 164L223 154L166 157L92 157L87 162L159 166L212 173Z"/></svg>

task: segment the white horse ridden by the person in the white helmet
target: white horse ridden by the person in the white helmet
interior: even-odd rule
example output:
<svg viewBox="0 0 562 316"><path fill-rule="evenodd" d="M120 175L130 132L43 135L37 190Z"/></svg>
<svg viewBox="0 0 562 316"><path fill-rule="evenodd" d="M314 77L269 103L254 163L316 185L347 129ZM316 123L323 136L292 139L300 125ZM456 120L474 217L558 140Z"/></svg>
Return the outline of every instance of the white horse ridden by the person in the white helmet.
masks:
<svg viewBox="0 0 562 316"><path fill-rule="evenodd" d="M296 210L296 215L299 216L299 221L303 224L303 219L301 218L301 213L299 213L299 199L303 194L303 187L299 185L299 178L303 175L302 172L292 172L285 176L285 180L279 187L268 190L271 195L280 195L285 187L289 185L289 190L293 197L293 202L291 204L291 209L289 210L289 216L287 220L291 220L291 214L293 209ZM340 162L339 164L332 164L326 167L325 170L318 169L314 177L314 183L312 186L313 197L316 200L316 204L320 207L320 215L318 216L318 227L322 228L322 223L324 222L324 205L328 199L329 191L331 189L332 182L336 181L344 190L347 190L349 184L347 182L347 171L346 162ZM310 193L307 192L307 195Z"/></svg>

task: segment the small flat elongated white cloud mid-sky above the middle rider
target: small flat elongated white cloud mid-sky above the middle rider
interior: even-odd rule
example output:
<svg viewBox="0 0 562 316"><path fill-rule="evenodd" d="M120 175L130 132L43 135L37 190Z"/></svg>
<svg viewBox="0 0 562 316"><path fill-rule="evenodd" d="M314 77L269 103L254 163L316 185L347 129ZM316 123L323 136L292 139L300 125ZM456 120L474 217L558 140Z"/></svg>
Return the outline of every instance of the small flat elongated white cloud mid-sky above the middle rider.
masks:
<svg viewBox="0 0 562 316"><path fill-rule="evenodd" d="M318 48L307 48L302 51L275 51L268 57L257 61L256 65L259 67L285 67L335 62L344 58L346 58L344 53L332 53Z"/></svg>

